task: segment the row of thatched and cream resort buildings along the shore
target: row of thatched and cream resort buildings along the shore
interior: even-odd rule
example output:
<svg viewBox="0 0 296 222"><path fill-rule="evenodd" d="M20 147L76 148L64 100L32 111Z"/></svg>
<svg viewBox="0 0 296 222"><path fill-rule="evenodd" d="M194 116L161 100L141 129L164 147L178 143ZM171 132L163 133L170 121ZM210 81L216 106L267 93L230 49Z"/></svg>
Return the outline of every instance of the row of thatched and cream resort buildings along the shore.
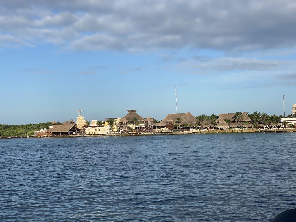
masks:
<svg viewBox="0 0 296 222"><path fill-rule="evenodd" d="M200 126L197 126L198 121L190 112L186 113L173 113L168 114L160 123L155 123L151 117L144 118L137 113L137 110L127 110L128 114L122 118L105 118L105 121L91 120L88 122L81 115L81 110L78 110L77 120L65 121L62 124L56 124L52 122L52 126L49 129L41 129L35 131L35 136L69 136L77 134L85 135L100 135L109 133L153 133L159 131L172 132L176 128L182 128L184 124L192 128L228 128L228 127L253 127L250 123L246 125L244 123L237 123L234 119L234 113L221 113L215 124L210 120L203 120ZM248 117L248 112L242 112L243 122L251 122ZM282 118L281 122L287 121L289 124L296 125L296 104L292 107L293 118ZM224 120L229 119L231 123L227 124ZM112 121L110 121L112 120ZM98 123L101 123L98 125ZM112 123L112 126L110 126ZM261 126L263 127L263 126Z"/></svg>

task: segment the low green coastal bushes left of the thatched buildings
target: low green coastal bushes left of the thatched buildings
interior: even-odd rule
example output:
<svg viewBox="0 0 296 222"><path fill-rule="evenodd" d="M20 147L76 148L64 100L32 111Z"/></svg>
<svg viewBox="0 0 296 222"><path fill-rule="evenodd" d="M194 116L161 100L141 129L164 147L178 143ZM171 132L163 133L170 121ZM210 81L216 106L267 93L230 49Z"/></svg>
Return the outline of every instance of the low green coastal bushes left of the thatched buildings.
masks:
<svg viewBox="0 0 296 222"><path fill-rule="evenodd" d="M55 124L61 124L59 122ZM7 125L0 124L0 136L33 136L34 131L48 129L52 122L25 124L25 125Z"/></svg>

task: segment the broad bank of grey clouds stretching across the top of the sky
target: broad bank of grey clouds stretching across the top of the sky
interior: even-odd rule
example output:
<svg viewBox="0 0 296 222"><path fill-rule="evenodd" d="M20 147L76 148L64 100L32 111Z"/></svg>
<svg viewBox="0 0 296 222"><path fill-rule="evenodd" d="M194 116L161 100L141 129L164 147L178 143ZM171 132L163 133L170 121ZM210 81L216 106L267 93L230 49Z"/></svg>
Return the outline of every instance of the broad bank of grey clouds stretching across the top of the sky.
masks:
<svg viewBox="0 0 296 222"><path fill-rule="evenodd" d="M293 0L2 0L1 6L0 32L32 45L128 52L296 45Z"/></svg>

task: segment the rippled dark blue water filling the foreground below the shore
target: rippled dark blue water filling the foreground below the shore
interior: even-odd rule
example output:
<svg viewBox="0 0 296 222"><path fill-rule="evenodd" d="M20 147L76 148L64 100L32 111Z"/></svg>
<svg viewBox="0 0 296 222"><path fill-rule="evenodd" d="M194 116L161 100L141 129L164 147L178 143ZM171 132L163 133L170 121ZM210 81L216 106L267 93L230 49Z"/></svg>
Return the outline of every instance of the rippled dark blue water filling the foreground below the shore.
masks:
<svg viewBox="0 0 296 222"><path fill-rule="evenodd" d="M0 221L270 221L296 133L0 140Z"/></svg>

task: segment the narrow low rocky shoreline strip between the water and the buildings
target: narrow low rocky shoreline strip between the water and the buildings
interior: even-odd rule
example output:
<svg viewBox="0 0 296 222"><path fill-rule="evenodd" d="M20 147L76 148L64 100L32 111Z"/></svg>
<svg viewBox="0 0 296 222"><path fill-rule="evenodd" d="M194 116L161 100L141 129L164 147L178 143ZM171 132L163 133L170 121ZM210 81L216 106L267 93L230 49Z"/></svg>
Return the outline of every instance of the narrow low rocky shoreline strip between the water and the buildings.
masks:
<svg viewBox="0 0 296 222"><path fill-rule="evenodd" d="M64 137L100 137L100 136L154 136L154 135L180 135L180 134L216 134L216 133L279 133L296 132L296 129L237 129L237 130L193 130L173 133L139 133L139 134L105 134L105 135L72 135L72 136L0 136L0 139L19 138L64 138Z"/></svg>

